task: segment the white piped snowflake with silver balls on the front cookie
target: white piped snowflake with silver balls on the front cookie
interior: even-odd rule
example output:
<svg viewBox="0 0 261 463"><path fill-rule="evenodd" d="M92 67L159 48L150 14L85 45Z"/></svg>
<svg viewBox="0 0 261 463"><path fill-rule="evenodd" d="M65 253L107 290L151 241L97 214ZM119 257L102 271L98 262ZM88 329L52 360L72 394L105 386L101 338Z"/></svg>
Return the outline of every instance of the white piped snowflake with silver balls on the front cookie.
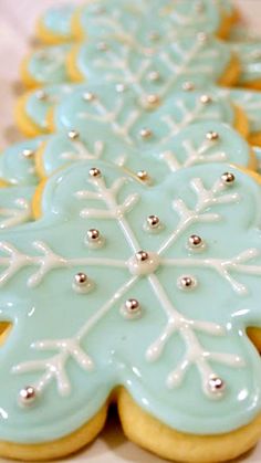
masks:
<svg viewBox="0 0 261 463"><path fill-rule="evenodd" d="M73 232L74 228L69 227L69 230L73 232L73 235L70 236L70 232L64 225L65 228L62 229L64 236L59 236L60 251L44 236L44 227L41 230L41 227L34 225L33 234L31 235L29 232L27 238L29 242L25 248L30 249L30 252L22 250L24 236L23 240L20 240L19 232L17 235L14 233L10 236L12 240L1 240L0 284L3 290L6 285L15 284L17 278L22 278L23 282L25 278L25 294L34 291L36 299L40 301L42 285L51 277L51 274L58 272L63 277L64 272L70 269L79 269L81 272L75 275L71 287L74 311L75 305L87 303L92 295L95 296L98 304L103 299L103 292L100 294L95 275L92 276L94 269L100 269L100 271L105 269L109 272L112 280L107 290L111 290L112 286L115 291L113 294L111 293L109 297L105 297L101 306L81 324L72 336L43 338L31 344L32 349L54 350L55 355L48 358L41 355L41 359L22 361L13 367L12 371L17 373L31 372L33 376L36 371L43 371L33 382L39 394L52 380L56 381L58 390L62 396L69 394L72 388L71 379L66 372L69 359L74 359L84 371L95 370L97 359L95 359L95 352L91 354L88 349L83 348L85 340L118 305L122 307L117 316L119 326L123 323L121 319L134 318L138 320L139 315L143 315L143 304L146 305L146 297L152 293L159 309L159 318L161 313L165 324L160 324L163 326L155 339L152 339L146 350L140 352L144 361L148 365L164 361L168 344L174 339L177 341L177 334L179 334L179 343L185 346L182 356L177 365L167 364L165 386L170 390L177 388L185 381L186 373L194 365L201 378L205 393L210 398L222 397L226 378L220 379L217 375L218 366L225 365L230 370L242 370L246 359L237 351L211 350L205 347L202 340L205 336L220 339L230 338L231 334L222 323L222 316L215 313L208 320L209 317L205 313L202 318L198 318L196 307L191 307L190 315L186 315L182 312L182 304L186 304L186 298L189 304L194 304L191 294L195 294L196 301L199 297L198 288L203 283L200 282L200 277L194 275L195 271L199 274L202 272L202 278L206 280L205 271L207 270L216 285L217 281L219 284L221 281L222 291L225 294L229 294L236 303L242 297L251 295L252 286L250 290L249 277L252 276L257 283L257 277L261 275L260 250L243 245L244 236L238 240L237 252L230 250L233 246L229 243L226 245L222 236L219 245L225 250L220 251L218 255L212 255L211 244L207 239L205 241L196 234L197 228L199 230L210 228L210 231L220 229L220 233L223 233L227 228L237 227L231 223L230 211L234 212L234 209L237 210L243 201L241 183L239 181L239 187L237 187L236 180L237 175L243 175L234 169L234 173L220 175L229 167L227 165L213 165L211 168L205 166L201 170L198 168L184 170L180 172L180 179L176 178L179 189L182 179L187 179L188 183L184 191L177 192L177 187L171 187L170 180L164 188L161 187L161 190L168 191L167 200L170 201L170 207L166 208L166 214L160 206L160 199L163 200L165 197L163 192L160 193L157 189L153 191L149 187L138 187L134 180L123 176L121 170L108 168L102 162L97 164L96 168L88 167L88 173L87 164L79 164L65 171L65 177L69 176L73 185L71 201L76 215L72 218L72 221L76 228ZM208 172L207 177L206 172ZM205 185L206 178L208 187ZM56 185L60 183L61 179L58 179ZM64 183L66 182L64 181ZM236 185L233 186L233 183ZM59 209L63 208L62 191L63 187L60 191L61 198L59 194L56 197L55 208ZM156 198L155 194L157 200L153 200L153 208L156 214L152 215L148 206L152 198ZM137 211L139 211L138 214ZM160 212L163 219L160 219ZM137 218L139 218L138 221ZM142 218L144 223L142 223ZM237 222L237 219L233 218L233 222ZM105 223L109 230L108 235ZM95 224L96 229L92 229L91 224ZM104 232L103 228L105 228ZM82 235L83 229L84 231L88 230L87 235L83 242L73 244L73 236L76 238L79 231ZM117 242L116 248L113 246L115 248L113 254L107 250L107 246L108 249L111 246L109 242L113 241L112 231L116 234ZM208 234L209 232L206 233L206 235ZM63 240L64 243L72 242L70 255L66 252L66 245L64 248ZM23 245L21 246L22 241ZM146 248L146 242L149 243L149 249ZM124 252L123 243L125 243ZM212 248L215 248L213 243ZM86 251L79 252L84 244L87 246ZM77 253L77 256L73 256L74 252ZM98 272L96 276L100 274ZM114 272L116 278L113 276ZM116 276L118 272L121 277ZM176 291L173 293L175 275L177 278ZM246 282L244 278L242 280L242 275L244 278L248 276ZM140 284L146 284L146 291L143 290L137 298L132 298L135 287L140 287ZM136 292L138 293L138 291ZM64 297L66 297L66 292ZM63 304L65 301L62 302ZM46 316L52 316L52 309L48 309ZM146 318L146 314L144 318ZM203 334L202 338L200 334ZM231 348L234 350L232 344Z"/></svg>

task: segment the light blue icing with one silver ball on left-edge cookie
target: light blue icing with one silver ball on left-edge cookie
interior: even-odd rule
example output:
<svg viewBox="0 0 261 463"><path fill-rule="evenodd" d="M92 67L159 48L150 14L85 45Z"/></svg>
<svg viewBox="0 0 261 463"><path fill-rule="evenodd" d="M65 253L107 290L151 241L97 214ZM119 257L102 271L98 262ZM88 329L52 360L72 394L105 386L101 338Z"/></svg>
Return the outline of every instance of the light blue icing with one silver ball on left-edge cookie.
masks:
<svg viewBox="0 0 261 463"><path fill-rule="evenodd" d="M0 155L0 179L11 185L36 185L33 157L43 139L30 138L6 148Z"/></svg>

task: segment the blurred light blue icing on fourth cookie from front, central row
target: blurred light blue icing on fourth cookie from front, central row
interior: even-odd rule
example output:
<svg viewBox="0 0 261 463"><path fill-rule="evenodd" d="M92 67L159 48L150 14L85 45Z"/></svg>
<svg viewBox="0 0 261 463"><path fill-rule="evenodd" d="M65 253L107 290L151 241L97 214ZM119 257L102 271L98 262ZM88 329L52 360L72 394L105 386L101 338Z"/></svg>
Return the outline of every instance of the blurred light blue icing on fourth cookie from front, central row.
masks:
<svg viewBox="0 0 261 463"><path fill-rule="evenodd" d="M153 48L143 51L117 40L107 39L102 44L101 50L98 41L86 41L80 46L74 61L83 78L88 83L129 85L139 97L156 93L164 99L174 88L180 88L185 80L201 86L210 80L218 81L230 61L223 43L210 38L202 40L195 33L165 43L156 53ZM158 78L153 80L155 73Z"/></svg>

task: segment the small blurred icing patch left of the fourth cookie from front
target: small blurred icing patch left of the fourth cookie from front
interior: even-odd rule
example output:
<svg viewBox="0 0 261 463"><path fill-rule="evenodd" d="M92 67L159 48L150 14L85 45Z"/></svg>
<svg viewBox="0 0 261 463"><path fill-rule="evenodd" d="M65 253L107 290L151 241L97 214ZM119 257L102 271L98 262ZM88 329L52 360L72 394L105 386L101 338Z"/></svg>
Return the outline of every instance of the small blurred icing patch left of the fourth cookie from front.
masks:
<svg viewBox="0 0 261 463"><path fill-rule="evenodd" d="M67 81L65 56L70 44L42 48L30 54L27 67L39 84L58 84Z"/></svg>

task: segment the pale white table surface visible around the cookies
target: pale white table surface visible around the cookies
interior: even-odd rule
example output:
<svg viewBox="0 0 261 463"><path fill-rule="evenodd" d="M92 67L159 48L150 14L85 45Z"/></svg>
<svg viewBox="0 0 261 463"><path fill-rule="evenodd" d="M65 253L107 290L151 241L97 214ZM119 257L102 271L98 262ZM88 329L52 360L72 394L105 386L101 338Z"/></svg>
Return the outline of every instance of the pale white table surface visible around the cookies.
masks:
<svg viewBox="0 0 261 463"><path fill-rule="evenodd" d="M73 1L73 0L71 0ZM132 0L130 0L132 1ZM77 3L76 0L73 1ZM14 128L12 108L18 93L19 63L29 50L35 18L60 0L0 0L0 148L21 137ZM246 20L261 30L261 0L236 0ZM85 451L67 461L90 463L160 463L163 460L127 442L115 417ZM0 459L0 462L4 460ZM261 463L261 444L238 462Z"/></svg>

